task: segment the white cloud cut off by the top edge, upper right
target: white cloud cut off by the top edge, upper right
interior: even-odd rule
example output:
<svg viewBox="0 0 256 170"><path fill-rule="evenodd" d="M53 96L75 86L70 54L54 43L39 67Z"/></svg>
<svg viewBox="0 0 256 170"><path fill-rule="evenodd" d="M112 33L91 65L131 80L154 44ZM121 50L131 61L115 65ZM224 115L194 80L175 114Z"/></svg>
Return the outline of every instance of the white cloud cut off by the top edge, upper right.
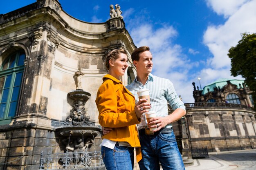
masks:
<svg viewBox="0 0 256 170"><path fill-rule="evenodd" d="M208 7L211 7L218 15L228 18L249 0L206 0Z"/></svg>

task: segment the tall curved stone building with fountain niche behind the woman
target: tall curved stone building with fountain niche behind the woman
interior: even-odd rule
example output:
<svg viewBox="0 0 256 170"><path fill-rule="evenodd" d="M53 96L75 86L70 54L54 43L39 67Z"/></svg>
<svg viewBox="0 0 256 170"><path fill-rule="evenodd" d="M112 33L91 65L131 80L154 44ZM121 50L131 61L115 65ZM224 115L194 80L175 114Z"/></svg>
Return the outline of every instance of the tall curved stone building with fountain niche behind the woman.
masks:
<svg viewBox="0 0 256 170"><path fill-rule="evenodd" d="M103 23L83 22L68 15L58 0L36 0L0 14L0 170L43 169L49 159L42 155L66 152L71 157L74 150L97 152L94 163L102 168L94 101L107 73L106 53L128 52L124 85L136 75L130 56L135 44L117 14ZM77 167L83 157L71 155Z"/></svg>

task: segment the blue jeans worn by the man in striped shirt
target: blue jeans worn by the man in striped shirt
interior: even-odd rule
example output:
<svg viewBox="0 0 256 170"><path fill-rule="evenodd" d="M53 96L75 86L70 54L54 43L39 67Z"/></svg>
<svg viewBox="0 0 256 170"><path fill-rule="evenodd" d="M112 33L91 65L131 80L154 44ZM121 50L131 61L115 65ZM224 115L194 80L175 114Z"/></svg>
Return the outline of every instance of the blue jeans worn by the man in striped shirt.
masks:
<svg viewBox="0 0 256 170"><path fill-rule="evenodd" d="M154 135L145 135L140 130L142 159L139 161L140 170L185 170L175 135L157 132Z"/></svg>

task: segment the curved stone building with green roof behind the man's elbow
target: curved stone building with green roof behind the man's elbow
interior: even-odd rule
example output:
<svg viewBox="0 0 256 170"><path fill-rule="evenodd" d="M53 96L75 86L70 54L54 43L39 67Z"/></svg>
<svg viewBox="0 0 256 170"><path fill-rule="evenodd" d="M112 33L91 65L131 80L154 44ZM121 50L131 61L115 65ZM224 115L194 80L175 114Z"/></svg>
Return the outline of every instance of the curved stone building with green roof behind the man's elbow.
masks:
<svg viewBox="0 0 256 170"><path fill-rule="evenodd" d="M193 82L195 103L187 103L189 145L209 151L256 148L256 113L250 89L243 80L218 79L199 90Z"/></svg>

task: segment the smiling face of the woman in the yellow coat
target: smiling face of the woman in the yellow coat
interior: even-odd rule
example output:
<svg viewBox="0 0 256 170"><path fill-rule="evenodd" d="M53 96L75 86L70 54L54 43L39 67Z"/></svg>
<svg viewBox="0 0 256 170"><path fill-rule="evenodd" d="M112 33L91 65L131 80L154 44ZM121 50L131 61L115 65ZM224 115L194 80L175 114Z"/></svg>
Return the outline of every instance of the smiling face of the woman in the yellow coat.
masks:
<svg viewBox="0 0 256 170"><path fill-rule="evenodd" d="M128 67L127 62L127 55L120 53L118 58L110 63L112 64L110 66L110 74L119 79L120 76L124 75L126 68Z"/></svg>

